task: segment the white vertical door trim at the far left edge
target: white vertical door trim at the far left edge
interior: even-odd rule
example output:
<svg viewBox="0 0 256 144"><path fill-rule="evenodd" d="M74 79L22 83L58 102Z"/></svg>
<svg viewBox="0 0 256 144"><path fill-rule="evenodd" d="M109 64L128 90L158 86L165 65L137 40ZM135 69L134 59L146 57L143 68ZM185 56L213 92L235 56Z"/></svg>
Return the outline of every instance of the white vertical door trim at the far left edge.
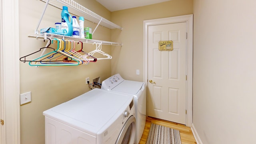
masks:
<svg viewBox="0 0 256 144"><path fill-rule="evenodd" d="M20 144L19 0L1 0L1 144Z"/></svg>

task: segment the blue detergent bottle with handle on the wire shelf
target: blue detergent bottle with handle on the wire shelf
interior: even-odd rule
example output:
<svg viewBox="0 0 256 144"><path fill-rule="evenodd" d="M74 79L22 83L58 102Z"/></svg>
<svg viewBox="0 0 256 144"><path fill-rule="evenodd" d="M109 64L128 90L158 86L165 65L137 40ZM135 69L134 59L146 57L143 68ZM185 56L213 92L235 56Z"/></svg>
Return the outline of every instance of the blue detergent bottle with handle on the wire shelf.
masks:
<svg viewBox="0 0 256 144"><path fill-rule="evenodd" d="M73 26L72 26L72 16L68 12L68 7L63 6L61 12L61 30L64 30L65 36L72 36Z"/></svg>

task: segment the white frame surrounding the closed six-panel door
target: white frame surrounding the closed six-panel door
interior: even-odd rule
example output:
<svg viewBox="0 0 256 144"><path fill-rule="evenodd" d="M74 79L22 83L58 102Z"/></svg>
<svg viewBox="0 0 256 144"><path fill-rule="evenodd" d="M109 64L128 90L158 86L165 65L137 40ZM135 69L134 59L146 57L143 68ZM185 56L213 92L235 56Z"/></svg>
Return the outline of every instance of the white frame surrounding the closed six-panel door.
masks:
<svg viewBox="0 0 256 144"><path fill-rule="evenodd" d="M170 18L159 18L154 20L144 20L143 33L144 33L144 77L148 88L148 26L173 24L179 22L186 22L187 32L187 45L186 45L186 126L192 126L192 80L193 80L193 14L184 16L174 16Z"/></svg>

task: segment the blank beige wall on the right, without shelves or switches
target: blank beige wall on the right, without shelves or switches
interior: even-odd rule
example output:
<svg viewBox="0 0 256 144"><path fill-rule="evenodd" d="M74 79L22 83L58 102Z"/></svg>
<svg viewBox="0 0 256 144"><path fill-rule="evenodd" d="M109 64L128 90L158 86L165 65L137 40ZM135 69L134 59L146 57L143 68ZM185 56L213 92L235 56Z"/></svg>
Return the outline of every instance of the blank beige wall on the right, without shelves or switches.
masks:
<svg viewBox="0 0 256 144"><path fill-rule="evenodd" d="M204 144L252 144L256 1L194 0L193 124Z"/></svg>

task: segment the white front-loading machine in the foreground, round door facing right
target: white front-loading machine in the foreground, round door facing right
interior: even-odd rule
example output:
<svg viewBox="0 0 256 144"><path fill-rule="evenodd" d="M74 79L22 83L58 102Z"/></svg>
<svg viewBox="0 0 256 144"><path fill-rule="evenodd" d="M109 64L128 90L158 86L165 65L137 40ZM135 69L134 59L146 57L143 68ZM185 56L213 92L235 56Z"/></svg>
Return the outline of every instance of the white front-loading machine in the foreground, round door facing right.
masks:
<svg viewBox="0 0 256 144"><path fill-rule="evenodd" d="M43 112L46 144L134 144L133 96L95 88Z"/></svg>

